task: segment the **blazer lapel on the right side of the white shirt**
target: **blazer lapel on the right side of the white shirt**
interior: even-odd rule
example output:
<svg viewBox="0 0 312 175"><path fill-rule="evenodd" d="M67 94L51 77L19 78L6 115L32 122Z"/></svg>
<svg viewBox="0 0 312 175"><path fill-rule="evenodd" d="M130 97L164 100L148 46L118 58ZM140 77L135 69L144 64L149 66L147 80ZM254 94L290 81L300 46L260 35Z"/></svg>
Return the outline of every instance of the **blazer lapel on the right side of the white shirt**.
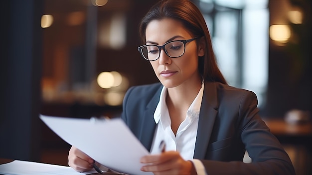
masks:
<svg viewBox="0 0 312 175"><path fill-rule="evenodd" d="M213 124L218 113L216 83L205 82L200 107L194 159L204 159L209 144Z"/></svg>

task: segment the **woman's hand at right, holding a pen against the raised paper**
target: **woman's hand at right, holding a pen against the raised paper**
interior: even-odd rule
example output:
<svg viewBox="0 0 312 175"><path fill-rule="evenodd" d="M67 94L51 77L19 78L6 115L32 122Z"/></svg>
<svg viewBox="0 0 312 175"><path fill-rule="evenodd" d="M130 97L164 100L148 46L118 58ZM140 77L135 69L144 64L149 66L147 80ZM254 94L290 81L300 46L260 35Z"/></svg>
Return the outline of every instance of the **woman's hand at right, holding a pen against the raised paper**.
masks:
<svg viewBox="0 0 312 175"><path fill-rule="evenodd" d="M147 164L141 168L141 171L153 172L154 175L196 175L193 163L185 161L175 151L144 156L141 158L141 163Z"/></svg>

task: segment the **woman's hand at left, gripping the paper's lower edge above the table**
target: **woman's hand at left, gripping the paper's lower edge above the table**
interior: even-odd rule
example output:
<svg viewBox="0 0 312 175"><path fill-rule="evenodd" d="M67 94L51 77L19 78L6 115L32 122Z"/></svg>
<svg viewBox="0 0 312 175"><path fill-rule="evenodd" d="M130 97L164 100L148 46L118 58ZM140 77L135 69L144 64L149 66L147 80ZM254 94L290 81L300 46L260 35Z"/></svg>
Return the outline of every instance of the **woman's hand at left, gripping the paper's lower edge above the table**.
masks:
<svg viewBox="0 0 312 175"><path fill-rule="evenodd" d="M68 165L77 172L86 172L93 168L93 159L72 146L68 153Z"/></svg>

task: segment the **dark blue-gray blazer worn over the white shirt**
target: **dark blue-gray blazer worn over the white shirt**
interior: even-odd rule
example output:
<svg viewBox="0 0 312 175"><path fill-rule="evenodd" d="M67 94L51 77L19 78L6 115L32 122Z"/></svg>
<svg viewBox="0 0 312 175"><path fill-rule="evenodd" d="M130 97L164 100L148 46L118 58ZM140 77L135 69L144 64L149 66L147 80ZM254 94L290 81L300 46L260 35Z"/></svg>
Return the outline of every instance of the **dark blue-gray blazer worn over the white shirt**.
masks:
<svg viewBox="0 0 312 175"><path fill-rule="evenodd" d="M122 119L151 149L160 83L132 87L125 95ZM194 159L208 175L295 175L287 153L258 114L256 95L247 90L205 82ZM245 150L252 163L243 163Z"/></svg>

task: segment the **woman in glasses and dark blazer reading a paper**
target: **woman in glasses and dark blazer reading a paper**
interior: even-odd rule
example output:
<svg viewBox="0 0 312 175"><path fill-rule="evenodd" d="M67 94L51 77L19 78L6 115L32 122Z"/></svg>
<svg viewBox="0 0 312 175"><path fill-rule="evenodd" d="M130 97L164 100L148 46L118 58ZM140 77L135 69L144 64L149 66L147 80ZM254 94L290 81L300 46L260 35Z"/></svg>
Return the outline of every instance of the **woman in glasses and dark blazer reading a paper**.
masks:
<svg viewBox="0 0 312 175"><path fill-rule="evenodd" d="M162 0L143 18L138 48L160 83L132 87L122 119L151 152L142 171L155 175L294 175L279 141L258 115L253 92L227 85L199 9ZM165 149L159 153L164 141ZM247 150L252 163L243 163ZM69 166L92 159L72 147Z"/></svg>

